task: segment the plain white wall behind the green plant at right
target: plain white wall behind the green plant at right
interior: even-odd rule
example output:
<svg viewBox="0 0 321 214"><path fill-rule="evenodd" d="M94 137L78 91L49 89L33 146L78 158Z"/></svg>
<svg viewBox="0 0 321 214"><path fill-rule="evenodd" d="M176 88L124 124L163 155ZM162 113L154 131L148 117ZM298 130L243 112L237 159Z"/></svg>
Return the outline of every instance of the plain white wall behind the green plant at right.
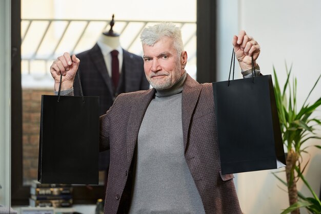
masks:
<svg viewBox="0 0 321 214"><path fill-rule="evenodd" d="M272 74L274 65L280 84L283 84L286 77L285 61L289 67L293 65L292 73L297 77L300 108L316 78L321 74L318 66L321 59L321 1L235 0L233 3L229 1L228 5L226 1L219 0L218 8L218 79L227 79L232 35L245 29L260 44L261 54L257 62L263 74ZM310 103L320 97L320 92L321 82L311 94ZM321 118L321 111L315 115ZM318 133L321 135L321 132ZM320 140L311 140L307 144L320 145ZM304 156L306 161L310 159L305 177L319 195L321 150L311 147L308 151L311 157ZM271 172L273 170L237 175L235 182L239 202L245 214L280 213L288 206L287 192L281 189L285 189L285 186L277 181ZM285 179L284 173L280 175ZM298 190L310 196L302 182L298 184ZM307 211L301 209L301 213Z"/></svg>

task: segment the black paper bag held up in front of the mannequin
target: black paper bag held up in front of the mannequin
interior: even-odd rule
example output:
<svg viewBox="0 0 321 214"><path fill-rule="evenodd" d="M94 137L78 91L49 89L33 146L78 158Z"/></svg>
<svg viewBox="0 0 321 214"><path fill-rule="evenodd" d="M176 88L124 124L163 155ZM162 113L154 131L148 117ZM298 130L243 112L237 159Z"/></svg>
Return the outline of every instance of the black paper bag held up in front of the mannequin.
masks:
<svg viewBox="0 0 321 214"><path fill-rule="evenodd" d="M99 99L81 86L81 96L60 96L60 88L42 95L38 181L98 184Z"/></svg>

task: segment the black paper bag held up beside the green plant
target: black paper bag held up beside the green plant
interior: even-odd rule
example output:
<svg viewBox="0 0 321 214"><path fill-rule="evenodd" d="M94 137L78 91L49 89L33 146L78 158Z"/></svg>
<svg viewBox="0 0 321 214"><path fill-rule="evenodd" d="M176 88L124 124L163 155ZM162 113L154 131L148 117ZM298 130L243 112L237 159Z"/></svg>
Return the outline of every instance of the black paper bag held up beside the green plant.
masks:
<svg viewBox="0 0 321 214"><path fill-rule="evenodd" d="M212 83L222 174L286 164L272 77L254 76L253 58L252 69L251 78L229 75L228 81Z"/></svg>

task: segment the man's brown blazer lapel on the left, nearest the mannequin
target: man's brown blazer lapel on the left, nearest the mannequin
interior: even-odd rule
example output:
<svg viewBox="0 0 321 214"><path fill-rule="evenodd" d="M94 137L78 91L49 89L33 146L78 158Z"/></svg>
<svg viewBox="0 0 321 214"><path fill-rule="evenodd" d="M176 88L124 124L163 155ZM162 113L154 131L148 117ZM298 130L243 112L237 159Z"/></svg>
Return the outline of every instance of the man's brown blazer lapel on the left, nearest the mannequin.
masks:
<svg viewBox="0 0 321 214"><path fill-rule="evenodd" d="M127 161L128 164L131 163L133 158L133 153L135 150L135 145L137 142L139 128L141 127L145 112L147 107L154 97L155 89L150 89L146 91L146 94L142 96L137 96L137 99L132 104L129 120L127 121Z"/></svg>

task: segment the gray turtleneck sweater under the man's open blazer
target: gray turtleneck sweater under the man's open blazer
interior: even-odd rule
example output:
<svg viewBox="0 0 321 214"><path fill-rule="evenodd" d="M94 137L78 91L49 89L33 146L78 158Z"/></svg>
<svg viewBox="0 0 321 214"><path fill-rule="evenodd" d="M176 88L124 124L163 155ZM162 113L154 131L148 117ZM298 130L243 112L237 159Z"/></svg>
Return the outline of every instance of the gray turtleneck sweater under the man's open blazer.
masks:
<svg viewBox="0 0 321 214"><path fill-rule="evenodd" d="M156 91L139 129L129 213L205 213L184 157L182 90L186 72Z"/></svg>

